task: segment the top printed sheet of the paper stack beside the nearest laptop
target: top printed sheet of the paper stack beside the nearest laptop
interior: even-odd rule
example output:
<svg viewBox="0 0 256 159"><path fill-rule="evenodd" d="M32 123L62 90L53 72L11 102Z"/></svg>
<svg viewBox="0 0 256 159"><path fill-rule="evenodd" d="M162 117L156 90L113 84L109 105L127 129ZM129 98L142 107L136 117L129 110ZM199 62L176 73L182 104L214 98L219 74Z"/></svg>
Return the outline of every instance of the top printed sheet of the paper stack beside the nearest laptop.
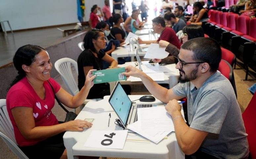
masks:
<svg viewBox="0 0 256 159"><path fill-rule="evenodd" d="M137 108L137 111L142 131L174 131L172 118L164 106Z"/></svg>

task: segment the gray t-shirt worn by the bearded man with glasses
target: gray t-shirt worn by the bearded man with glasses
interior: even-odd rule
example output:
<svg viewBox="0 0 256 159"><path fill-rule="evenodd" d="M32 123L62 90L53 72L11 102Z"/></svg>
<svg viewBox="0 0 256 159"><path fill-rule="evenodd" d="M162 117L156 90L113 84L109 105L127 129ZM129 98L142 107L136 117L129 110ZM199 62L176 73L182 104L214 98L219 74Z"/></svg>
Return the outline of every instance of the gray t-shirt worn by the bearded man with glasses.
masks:
<svg viewBox="0 0 256 159"><path fill-rule="evenodd" d="M247 134L234 89L219 71L199 89L191 82L178 83L174 94L188 97L191 128L209 132L201 151L217 158L244 158L249 154Z"/></svg>

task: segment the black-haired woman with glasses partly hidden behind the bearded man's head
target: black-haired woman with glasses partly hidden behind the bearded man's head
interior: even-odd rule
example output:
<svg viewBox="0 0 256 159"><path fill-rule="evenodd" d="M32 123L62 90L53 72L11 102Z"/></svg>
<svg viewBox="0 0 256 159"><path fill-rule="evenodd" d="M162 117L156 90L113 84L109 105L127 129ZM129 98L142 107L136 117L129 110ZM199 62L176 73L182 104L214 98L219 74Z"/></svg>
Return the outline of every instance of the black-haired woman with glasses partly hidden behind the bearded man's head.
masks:
<svg viewBox="0 0 256 159"><path fill-rule="evenodd" d="M194 39L196 37L204 37L203 29L200 25L196 24L190 24L185 26L182 29L183 32L183 37L182 41L183 43L190 40ZM159 41L159 47L161 48L166 48L165 51L171 54L172 56L165 57L164 59L153 59L153 62L155 63L160 63L161 64L171 64L171 63L177 63L177 55L180 52L180 49L178 49L176 46L172 45L171 43L165 41L165 40L160 40Z"/></svg>

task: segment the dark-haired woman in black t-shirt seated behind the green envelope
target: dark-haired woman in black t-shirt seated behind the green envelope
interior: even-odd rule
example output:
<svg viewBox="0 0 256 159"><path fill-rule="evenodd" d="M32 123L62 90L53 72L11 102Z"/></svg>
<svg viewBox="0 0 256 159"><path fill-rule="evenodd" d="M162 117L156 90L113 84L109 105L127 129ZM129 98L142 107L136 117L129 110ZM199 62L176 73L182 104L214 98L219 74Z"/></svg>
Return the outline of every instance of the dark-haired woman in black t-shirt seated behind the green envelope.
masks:
<svg viewBox="0 0 256 159"><path fill-rule="evenodd" d="M78 65L78 88L83 87L87 73L91 69L102 70L102 61L110 64L109 68L117 67L117 61L106 54L101 49L106 46L105 34L102 30L92 29L84 37L85 50L77 59ZM110 87L108 83L94 84L87 96L88 99L103 98L110 95Z"/></svg>

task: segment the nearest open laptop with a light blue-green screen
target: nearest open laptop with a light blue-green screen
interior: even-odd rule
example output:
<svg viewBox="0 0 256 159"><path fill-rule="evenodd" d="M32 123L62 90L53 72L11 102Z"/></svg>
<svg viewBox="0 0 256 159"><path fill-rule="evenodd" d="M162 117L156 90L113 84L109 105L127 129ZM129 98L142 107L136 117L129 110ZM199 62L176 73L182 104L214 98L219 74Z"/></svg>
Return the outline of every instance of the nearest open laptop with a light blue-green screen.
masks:
<svg viewBox="0 0 256 159"><path fill-rule="evenodd" d="M132 124L136 122L137 119L137 108L138 107L153 107L153 106L164 106L163 103L132 103L129 99L128 95L125 93L123 87L120 82L118 82L111 93L111 96L108 100L110 105L113 107L116 112L119 120L122 125L127 129L128 124Z"/></svg>

